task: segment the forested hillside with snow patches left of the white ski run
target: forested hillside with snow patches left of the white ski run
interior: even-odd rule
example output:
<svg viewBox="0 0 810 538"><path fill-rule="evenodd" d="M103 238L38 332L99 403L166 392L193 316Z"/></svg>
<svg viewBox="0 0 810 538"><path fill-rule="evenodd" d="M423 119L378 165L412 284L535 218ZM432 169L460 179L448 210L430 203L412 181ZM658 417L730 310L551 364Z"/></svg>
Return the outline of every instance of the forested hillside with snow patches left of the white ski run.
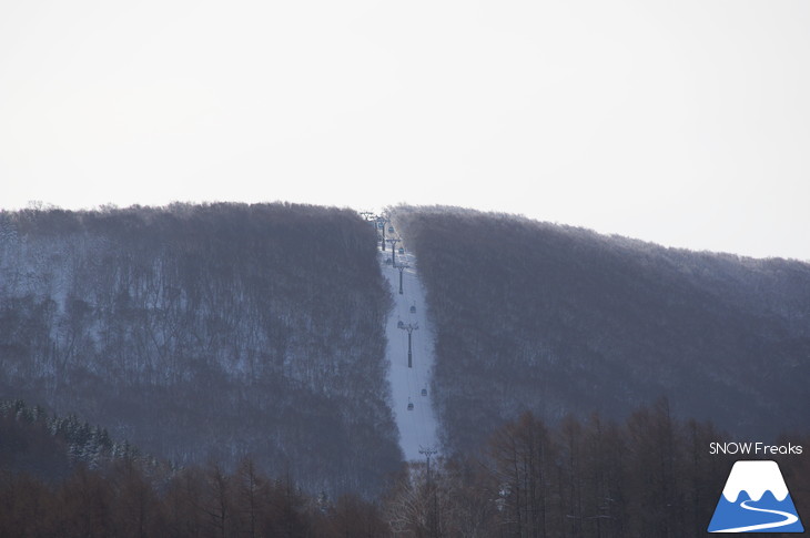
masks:
<svg viewBox="0 0 810 538"><path fill-rule="evenodd" d="M0 213L0 397L308 490L401 461L374 231L283 204ZM363 449L358 450L357 447Z"/></svg>

